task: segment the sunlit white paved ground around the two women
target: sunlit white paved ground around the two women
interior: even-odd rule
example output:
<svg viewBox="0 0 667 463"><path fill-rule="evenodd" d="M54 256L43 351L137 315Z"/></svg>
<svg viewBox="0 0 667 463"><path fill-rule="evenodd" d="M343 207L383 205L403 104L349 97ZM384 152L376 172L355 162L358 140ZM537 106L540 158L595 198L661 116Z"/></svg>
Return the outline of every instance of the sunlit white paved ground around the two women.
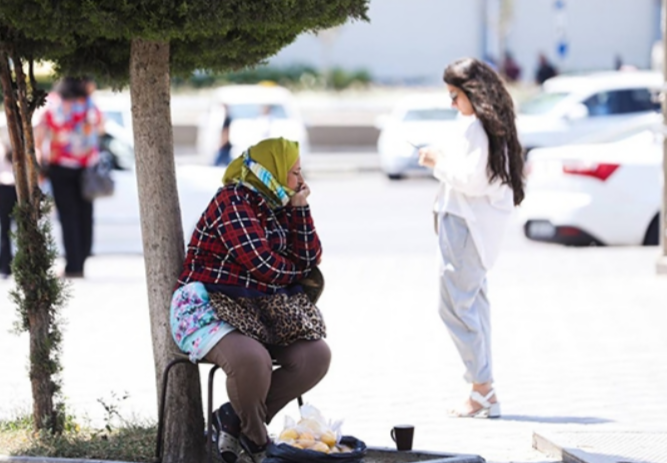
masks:
<svg viewBox="0 0 667 463"><path fill-rule="evenodd" d="M504 416L446 417L466 385L436 309L434 187L379 175L317 181L327 280L320 308L334 357L306 401L372 446L391 446L391 427L410 423L416 449L490 462L550 460L532 448L534 432L665 431L667 277L655 275L657 249L535 245L518 224L489 275ZM86 272L63 313L67 403L100 424L98 399L127 391L123 416L154 418L143 259L95 256ZM11 285L0 280L0 418L30 404L27 335L7 333L15 319ZM218 402L222 377L216 385ZM270 430L278 432L283 419Z"/></svg>

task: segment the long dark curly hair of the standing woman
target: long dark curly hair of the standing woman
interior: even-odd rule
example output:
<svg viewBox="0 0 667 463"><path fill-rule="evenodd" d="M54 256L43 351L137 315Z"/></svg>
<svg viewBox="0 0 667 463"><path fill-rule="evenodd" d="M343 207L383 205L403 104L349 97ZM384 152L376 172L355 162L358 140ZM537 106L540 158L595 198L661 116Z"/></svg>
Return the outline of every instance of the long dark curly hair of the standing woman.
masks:
<svg viewBox="0 0 667 463"><path fill-rule="evenodd" d="M487 64L463 58L447 66L445 83L460 88L470 100L489 138L489 181L500 179L514 192L514 205L523 201L523 149L516 131L512 97L500 76Z"/></svg>

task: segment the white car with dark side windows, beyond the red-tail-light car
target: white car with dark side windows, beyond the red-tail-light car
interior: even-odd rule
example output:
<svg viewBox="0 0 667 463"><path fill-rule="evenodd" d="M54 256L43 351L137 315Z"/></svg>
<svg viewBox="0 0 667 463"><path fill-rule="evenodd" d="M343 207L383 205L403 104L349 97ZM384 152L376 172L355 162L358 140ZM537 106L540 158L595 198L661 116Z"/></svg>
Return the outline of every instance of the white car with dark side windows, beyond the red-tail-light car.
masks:
<svg viewBox="0 0 667 463"><path fill-rule="evenodd" d="M661 73L647 71L554 77L519 106L519 139L530 151L623 126L660 110L662 85Z"/></svg>

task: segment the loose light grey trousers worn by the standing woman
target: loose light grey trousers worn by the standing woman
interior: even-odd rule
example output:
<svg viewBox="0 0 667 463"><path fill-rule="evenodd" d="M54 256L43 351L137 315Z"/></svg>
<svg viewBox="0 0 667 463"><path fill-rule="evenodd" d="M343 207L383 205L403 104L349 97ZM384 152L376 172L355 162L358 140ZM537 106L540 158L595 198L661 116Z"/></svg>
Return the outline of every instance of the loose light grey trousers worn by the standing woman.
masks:
<svg viewBox="0 0 667 463"><path fill-rule="evenodd" d="M438 243L440 317L465 364L464 379L469 383L492 382L486 269L465 219L440 214Z"/></svg>

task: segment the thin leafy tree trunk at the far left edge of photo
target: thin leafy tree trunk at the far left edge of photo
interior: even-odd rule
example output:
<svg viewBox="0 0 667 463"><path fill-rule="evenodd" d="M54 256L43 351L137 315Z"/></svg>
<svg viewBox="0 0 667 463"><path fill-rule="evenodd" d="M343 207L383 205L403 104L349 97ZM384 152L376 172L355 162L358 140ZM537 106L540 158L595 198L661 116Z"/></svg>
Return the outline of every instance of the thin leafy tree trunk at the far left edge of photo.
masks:
<svg viewBox="0 0 667 463"><path fill-rule="evenodd" d="M20 264L14 275L18 289L13 293L21 316L21 326L30 335L30 383L35 430L62 431L63 421L54 396L60 388L55 375L60 370L58 350L60 333L56 313L62 304L62 286L53 283L50 273L54 256L49 251L50 235L41 221L48 212L39 188L35 146L32 134L32 109L29 105L22 60L0 52L0 80L5 98L5 113L12 145L12 165L18 193L15 209ZM31 89L35 91L35 89ZM37 97L36 93L32 94ZM20 258L19 258L20 256Z"/></svg>

